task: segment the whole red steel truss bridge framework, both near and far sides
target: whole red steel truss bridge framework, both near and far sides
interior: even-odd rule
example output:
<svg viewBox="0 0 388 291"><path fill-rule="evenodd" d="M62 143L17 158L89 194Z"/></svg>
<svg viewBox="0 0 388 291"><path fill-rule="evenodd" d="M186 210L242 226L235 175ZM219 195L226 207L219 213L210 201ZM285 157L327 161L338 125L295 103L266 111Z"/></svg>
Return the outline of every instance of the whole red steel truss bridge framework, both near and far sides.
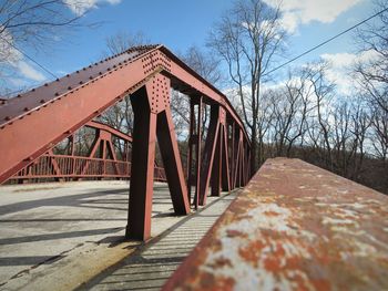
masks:
<svg viewBox="0 0 388 291"><path fill-rule="evenodd" d="M190 97L185 170L173 125L171 89ZM127 95L134 113L133 138L93 121ZM211 108L205 141L203 104ZM76 156L73 135L84 126L96 134L88 156ZM121 159L116 157L113 136L124 144ZM64 139L70 144L67 152L54 154L53 147ZM155 167L156 141L164 169ZM129 143L131 160L125 152ZM163 45L132 48L2 100L0 153L0 183L131 176L126 237L143 240L150 237L154 177L167 181L177 215L188 214L191 204L205 205L210 188L217 196L221 190L246 185L251 178L249 142L236 111L223 93Z"/></svg>

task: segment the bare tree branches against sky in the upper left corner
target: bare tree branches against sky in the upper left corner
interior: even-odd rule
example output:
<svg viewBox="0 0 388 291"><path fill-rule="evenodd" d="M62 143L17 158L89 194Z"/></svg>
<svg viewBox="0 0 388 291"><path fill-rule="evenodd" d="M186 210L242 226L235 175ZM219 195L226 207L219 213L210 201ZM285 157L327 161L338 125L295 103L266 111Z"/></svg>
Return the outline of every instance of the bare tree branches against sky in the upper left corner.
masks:
<svg viewBox="0 0 388 291"><path fill-rule="evenodd" d="M71 7L82 7L73 13ZM98 23L82 23L88 12L84 0L2 0L0 1L0 94L12 94L8 83L18 75L24 55L21 49L48 52L50 44L69 34L75 28L93 27ZM24 85L20 91L27 90Z"/></svg>

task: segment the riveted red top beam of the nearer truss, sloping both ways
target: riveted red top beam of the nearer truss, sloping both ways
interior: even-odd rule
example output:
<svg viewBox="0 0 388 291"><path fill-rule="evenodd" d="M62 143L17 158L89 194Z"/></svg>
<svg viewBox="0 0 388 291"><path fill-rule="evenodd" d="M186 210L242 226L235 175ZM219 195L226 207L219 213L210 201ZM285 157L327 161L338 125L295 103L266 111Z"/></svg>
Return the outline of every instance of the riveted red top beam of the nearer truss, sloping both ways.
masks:
<svg viewBox="0 0 388 291"><path fill-rule="evenodd" d="M12 150L2 155L0 183L159 73L171 79L173 87L202 94L207 103L224 106L245 133L241 118L226 96L166 48L136 46L17 97L1 101L0 149L3 153L7 148ZM159 105L164 101L163 96L156 96L153 111L159 111ZM47 126L49 123L55 123L55 126ZM245 137L247 141L246 134Z"/></svg>

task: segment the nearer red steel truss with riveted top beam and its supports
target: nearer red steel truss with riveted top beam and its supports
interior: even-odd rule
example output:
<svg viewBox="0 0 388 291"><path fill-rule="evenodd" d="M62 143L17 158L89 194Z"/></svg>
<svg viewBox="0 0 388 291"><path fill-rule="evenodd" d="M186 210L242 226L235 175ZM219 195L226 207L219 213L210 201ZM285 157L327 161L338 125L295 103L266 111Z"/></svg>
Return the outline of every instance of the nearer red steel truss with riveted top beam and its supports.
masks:
<svg viewBox="0 0 388 291"><path fill-rule="evenodd" d="M244 162L246 150L243 150L242 145L244 143L246 148L249 146L243 122L225 95L162 45L132 48L50 84L1 102L0 183L34 163L55 144L72 136L74 131L124 96L132 94L131 101L137 113L134 122L127 236L146 239L151 228L156 136L166 166L166 179L174 209L177 214L190 211L187 185L170 113L171 87L184 92L190 98L201 97L202 103L212 107L211 125L202 155L201 139L197 142L195 200L198 199L200 205L205 204L211 180L215 180L213 193L219 193L217 186L219 184L224 189L233 188L234 185L242 186L247 180L246 172L243 172L243 167L247 165ZM233 175L229 177L227 175L229 170L225 157L228 157L229 153L225 146L225 121L233 123L239 133L237 153L239 162L234 167L238 174L232 172L238 183L231 181ZM197 124L200 123L198 118ZM52 126L48 126L49 124ZM198 135L202 133L201 129L198 127ZM84 162L81 175L86 175L89 165L94 163L92 159L95 158L98 148L102 153L100 158L105 159L106 155L114 158L113 146L104 135L104 128L100 128L100 132L102 134L90 153L91 160ZM217 144L219 155L215 153ZM216 163L213 163L215 155ZM190 159L192 158L193 155L190 156ZM58 162L51 158L50 163L54 172L58 172ZM193 164L192 160L188 164ZM109 175L105 167L101 170L102 175ZM118 164L113 165L113 170L119 173Z"/></svg>

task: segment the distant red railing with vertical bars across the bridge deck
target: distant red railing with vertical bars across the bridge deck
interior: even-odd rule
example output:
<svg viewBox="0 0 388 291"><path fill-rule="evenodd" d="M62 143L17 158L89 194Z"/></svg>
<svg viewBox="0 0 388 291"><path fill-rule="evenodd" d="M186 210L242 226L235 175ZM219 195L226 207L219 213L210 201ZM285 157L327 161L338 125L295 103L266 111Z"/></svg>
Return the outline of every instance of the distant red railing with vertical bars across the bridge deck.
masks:
<svg viewBox="0 0 388 291"><path fill-rule="evenodd" d="M129 179L130 177L130 162L45 154L30 166L19 170L9 180L12 183L30 179ZM166 181L164 168L154 168L154 180Z"/></svg>

